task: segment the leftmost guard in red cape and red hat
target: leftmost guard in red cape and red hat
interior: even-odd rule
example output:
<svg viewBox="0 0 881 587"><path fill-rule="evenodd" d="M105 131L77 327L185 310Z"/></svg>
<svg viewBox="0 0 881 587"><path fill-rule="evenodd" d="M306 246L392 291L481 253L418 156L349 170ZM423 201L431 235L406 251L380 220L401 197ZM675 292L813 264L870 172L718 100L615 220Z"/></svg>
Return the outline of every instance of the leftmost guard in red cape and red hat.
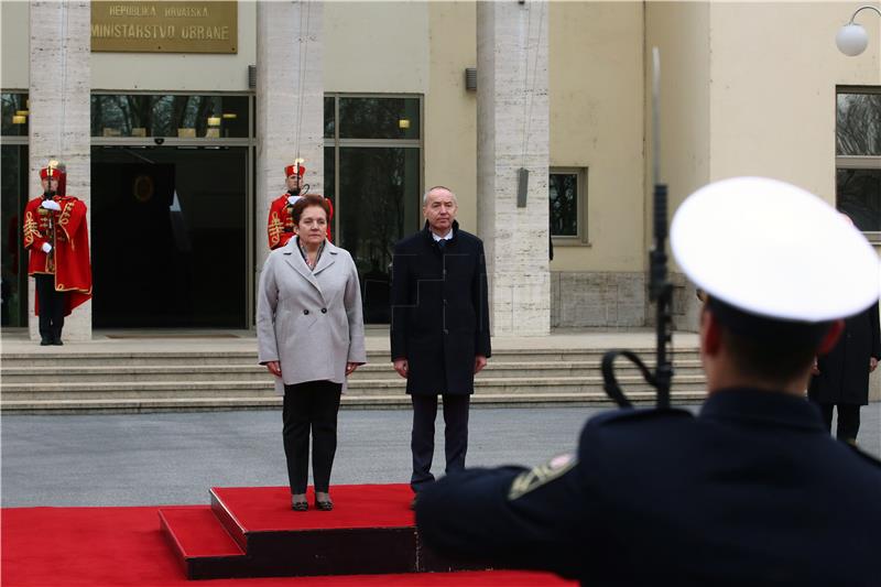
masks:
<svg viewBox="0 0 881 587"><path fill-rule="evenodd" d="M43 195L25 206L22 233L30 251L28 274L36 280L40 344L62 345L64 317L91 297L86 205L66 195L66 174L57 161L40 170L40 181Z"/></svg>

